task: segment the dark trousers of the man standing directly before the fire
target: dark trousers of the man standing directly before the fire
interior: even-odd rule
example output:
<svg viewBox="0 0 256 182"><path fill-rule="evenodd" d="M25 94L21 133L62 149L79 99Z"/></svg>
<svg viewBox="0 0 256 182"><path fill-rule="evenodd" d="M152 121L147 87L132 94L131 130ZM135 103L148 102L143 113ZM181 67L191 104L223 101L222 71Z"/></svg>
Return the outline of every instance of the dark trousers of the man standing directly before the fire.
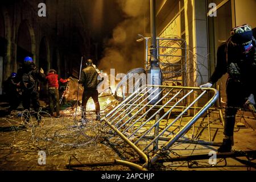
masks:
<svg viewBox="0 0 256 182"><path fill-rule="evenodd" d="M98 90L84 90L82 93L82 118L86 117L86 104L92 97L95 105L95 113L100 114L100 103L98 102Z"/></svg>

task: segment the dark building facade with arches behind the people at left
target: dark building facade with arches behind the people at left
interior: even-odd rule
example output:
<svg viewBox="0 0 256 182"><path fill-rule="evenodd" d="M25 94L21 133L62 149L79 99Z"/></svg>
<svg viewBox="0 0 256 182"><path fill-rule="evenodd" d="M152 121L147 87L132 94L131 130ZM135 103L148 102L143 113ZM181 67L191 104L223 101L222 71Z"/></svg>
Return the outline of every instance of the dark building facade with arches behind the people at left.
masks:
<svg viewBox="0 0 256 182"><path fill-rule="evenodd" d="M40 3L46 5L46 16L39 16ZM91 56L90 32L81 14L79 2L71 0L0 2L0 85L25 56L45 73L53 68L62 77L77 77L81 56Z"/></svg>

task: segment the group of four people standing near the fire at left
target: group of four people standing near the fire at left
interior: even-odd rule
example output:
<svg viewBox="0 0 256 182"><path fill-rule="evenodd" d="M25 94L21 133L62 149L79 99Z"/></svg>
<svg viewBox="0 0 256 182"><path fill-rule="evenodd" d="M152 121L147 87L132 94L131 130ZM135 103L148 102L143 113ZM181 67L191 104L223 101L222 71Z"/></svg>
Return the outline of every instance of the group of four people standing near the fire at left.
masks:
<svg viewBox="0 0 256 182"><path fill-rule="evenodd" d="M92 60L88 60L87 67L82 70L81 79L79 83L84 86L84 93L82 95L82 117L81 120L85 121L86 103L90 97L96 105L96 120L100 119L100 104L98 102L97 92L97 77L98 72L96 67L93 67ZM59 81L67 83L70 79L60 78L55 69L50 69L47 75L44 74L42 68L36 68L32 57L27 56L24 58L21 68L17 73L11 73L10 77L3 84L3 90L6 93L7 100L9 101L9 109L7 114L16 110L22 103L23 109L30 111L31 106L34 113L38 113L40 109L39 103L39 83L44 82L48 84L48 101L49 101L49 114L52 117L59 118L60 115L60 97L59 97ZM56 110L56 115L53 114ZM41 121L40 114L35 114L38 124ZM25 122L29 122L30 118L27 117ZM81 121L80 120L80 121Z"/></svg>

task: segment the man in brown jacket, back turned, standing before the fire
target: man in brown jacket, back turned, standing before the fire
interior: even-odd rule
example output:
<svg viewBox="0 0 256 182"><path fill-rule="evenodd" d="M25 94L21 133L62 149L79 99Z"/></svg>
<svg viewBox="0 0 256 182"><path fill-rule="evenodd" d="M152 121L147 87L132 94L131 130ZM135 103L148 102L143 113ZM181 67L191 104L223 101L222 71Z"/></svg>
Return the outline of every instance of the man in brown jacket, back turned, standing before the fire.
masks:
<svg viewBox="0 0 256 182"><path fill-rule="evenodd" d="M88 59L86 61L86 68L81 72L81 78L79 83L84 86L84 92L82 93L82 120L86 120L86 104L90 97L93 98L93 102L96 109L96 121L100 120L100 104L98 102L98 72L93 67L93 61Z"/></svg>

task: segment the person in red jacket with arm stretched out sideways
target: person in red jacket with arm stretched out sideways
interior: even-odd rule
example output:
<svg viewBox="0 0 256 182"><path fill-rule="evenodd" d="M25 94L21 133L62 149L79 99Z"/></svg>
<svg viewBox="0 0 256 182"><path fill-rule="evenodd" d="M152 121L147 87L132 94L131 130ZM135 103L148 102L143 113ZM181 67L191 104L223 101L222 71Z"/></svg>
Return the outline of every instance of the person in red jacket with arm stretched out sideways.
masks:
<svg viewBox="0 0 256 182"><path fill-rule="evenodd" d="M49 106L50 106L50 114L53 116L53 110L56 106L56 117L60 117L60 103L59 103L59 81L60 82L68 82L68 79L59 78L57 72L54 69L50 69L48 75L46 76L48 89L49 89Z"/></svg>

